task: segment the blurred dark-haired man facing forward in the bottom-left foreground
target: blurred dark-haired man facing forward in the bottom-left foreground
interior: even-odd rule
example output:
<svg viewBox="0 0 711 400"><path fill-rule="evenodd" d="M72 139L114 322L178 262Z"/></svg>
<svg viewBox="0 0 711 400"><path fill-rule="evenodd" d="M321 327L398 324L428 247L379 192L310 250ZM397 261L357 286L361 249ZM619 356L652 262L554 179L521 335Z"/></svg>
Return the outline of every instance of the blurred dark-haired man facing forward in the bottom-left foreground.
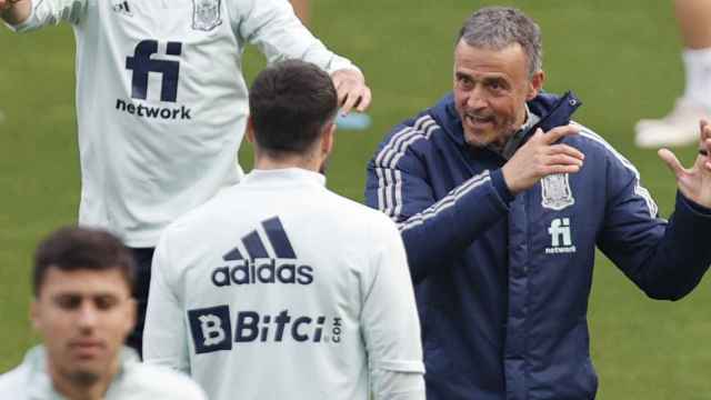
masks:
<svg viewBox="0 0 711 400"><path fill-rule="evenodd" d="M0 376L0 399L206 400L187 377L139 362L132 254L110 233L63 228L34 254L31 319L43 344Z"/></svg>

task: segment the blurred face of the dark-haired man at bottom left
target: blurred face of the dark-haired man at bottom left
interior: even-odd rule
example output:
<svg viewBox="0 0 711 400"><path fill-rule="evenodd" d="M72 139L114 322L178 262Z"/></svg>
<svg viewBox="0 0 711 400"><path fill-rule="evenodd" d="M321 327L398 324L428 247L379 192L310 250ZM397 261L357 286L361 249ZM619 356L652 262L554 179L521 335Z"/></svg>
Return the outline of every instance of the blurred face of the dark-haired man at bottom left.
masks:
<svg viewBox="0 0 711 400"><path fill-rule="evenodd" d="M136 321L136 303L119 269L47 270L31 318L49 369L72 381L106 378Z"/></svg>

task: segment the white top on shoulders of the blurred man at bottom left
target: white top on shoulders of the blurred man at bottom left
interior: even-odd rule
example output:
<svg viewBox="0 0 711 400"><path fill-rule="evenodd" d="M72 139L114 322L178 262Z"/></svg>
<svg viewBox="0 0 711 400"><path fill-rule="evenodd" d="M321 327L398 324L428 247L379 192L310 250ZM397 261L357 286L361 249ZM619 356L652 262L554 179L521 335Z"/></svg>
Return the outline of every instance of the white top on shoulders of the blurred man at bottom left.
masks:
<svg viewBox="0 0 711 400"><path fill-rule="evenodd" d="M133 350L121 352L119 373L113 377L104 400L207 400L203 391L190 378L166 368L140 363ZM47 372L47 352L39 346L30 350L24 361L0 376L0 399L63 400Z"/></svg>

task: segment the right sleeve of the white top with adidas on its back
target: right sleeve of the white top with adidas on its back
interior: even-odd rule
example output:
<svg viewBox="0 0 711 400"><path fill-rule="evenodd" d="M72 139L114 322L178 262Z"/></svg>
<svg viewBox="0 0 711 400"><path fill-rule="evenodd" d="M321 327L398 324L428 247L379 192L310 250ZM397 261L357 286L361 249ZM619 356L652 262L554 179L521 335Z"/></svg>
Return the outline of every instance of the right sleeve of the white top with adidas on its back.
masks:
<svg viewBox="0 0 711 400"><path fill-rule="evenodd" d="M363 282L361 323L372 392L380 399L424 399L420 322L402 239L384 220L373 232L378 246L371 280Z"/></svg>

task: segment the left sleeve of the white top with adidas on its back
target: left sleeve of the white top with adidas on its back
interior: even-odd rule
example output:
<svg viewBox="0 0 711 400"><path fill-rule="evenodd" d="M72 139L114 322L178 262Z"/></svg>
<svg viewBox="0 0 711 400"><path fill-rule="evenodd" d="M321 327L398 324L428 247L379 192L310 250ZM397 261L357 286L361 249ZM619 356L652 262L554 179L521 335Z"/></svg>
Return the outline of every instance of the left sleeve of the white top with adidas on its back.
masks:
<svg viewBox="0 0 711 400"><path fill-rule="evenodd" d="M151 286L143 330L143 360L190 373L187 327L181 302L169 281L168 232L162 234L151 266Z"/></svg>

